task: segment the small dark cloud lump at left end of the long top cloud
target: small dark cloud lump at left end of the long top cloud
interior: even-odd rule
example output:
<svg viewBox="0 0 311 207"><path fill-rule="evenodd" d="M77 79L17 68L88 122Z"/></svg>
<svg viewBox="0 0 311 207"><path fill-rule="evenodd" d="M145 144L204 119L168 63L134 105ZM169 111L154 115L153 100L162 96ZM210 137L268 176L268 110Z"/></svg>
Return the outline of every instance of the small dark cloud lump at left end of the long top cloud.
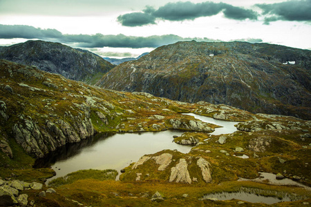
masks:
<svg viewBox="0 0 311 207"><path fill-rule="evenodd" d="M124 14L117 17L117 21L122 22L123 26L135 27L147 24L155 24L156 17L148 13L135 12L131 14Z"/></svg>

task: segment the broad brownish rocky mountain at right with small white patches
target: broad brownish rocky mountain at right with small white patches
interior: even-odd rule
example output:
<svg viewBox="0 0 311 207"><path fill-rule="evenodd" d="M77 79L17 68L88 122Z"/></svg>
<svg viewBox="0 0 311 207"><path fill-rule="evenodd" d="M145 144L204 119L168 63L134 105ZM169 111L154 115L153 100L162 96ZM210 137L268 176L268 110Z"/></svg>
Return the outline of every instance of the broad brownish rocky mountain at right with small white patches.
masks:
<svg viewBox="0 0 311 207"><path fill-rule="evenodd" d="M311 51L267 43L178 42L120 64L96 85L311 119Z"/></svg>

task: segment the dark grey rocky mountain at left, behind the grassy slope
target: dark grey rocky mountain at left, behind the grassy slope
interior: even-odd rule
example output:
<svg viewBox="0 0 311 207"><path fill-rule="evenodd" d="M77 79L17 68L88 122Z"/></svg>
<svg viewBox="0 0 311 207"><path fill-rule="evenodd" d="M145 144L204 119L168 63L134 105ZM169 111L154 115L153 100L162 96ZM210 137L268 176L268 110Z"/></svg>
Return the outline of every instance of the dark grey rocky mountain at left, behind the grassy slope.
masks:
<svg viewBox="0 0 311 207"><path fill-rule="evenodd" d="M36 66L68 79L95 83L114 66L86 50L76 50L61 43L26 41L0 48L0 59Z"/></svg>

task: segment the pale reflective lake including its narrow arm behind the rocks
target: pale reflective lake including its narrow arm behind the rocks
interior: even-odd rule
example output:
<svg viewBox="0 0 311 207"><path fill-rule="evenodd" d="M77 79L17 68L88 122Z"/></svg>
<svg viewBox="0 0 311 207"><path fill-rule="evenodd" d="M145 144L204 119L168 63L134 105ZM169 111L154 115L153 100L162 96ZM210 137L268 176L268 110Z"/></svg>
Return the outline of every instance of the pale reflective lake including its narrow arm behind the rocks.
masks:
<svg viewBox="0 0 311 207"><path fill-rule="evenodd" d="M224 126L223 128L216 128L213 135L236 131L234 124L237 122L221 121L194 114L185 115L191 115L201 121ZM192 146L174 143L173 135L180 136L182 131L166 130L162 132L123 134L100 133L79 143L66 144L66 146L59 148L57 151L51 152L44 159L38 159L35 167L51 167L55 170L56 175L48 179L48 181L65 176L70 172L85 169L115 169L120 174L122 168L138 161L143 155L153 154L166 149L188 153Z"/></svg>

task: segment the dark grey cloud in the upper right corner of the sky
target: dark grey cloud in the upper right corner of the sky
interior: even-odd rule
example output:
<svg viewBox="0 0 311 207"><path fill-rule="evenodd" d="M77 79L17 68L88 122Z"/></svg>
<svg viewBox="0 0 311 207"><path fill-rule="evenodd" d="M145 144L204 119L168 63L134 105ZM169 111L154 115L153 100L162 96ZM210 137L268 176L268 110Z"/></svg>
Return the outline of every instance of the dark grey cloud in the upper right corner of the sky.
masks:
<svg viewBox="0 0 311 207"><path fill-rule="evenodd" d="M272 4L256 4L263 10L263 14L272 15L266 17L266 23L270 21L311 21L311 0L284 1Z"/></svg>

